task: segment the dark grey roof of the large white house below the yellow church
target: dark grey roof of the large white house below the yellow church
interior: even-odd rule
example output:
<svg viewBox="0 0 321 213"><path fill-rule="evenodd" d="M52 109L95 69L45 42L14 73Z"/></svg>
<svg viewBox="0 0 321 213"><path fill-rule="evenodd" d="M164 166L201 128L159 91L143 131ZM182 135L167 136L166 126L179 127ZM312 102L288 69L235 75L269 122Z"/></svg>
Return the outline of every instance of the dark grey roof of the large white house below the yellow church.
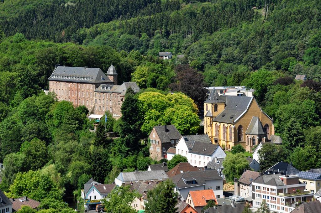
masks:
<svg viewBox="0 0 321 213"><path fill-rule="evenodd" d="M183 136L189 153L212 155L219 145L212 144L207 134Z"/></svg>

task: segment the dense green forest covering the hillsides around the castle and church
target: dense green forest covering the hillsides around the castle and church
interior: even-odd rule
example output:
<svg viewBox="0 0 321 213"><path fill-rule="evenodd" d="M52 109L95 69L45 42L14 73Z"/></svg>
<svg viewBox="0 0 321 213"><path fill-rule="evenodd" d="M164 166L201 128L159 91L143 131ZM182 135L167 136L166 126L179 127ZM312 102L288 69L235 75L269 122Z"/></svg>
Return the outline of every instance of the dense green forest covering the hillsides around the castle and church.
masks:
<svg viewBox="0 0 321 213"><path fill-rule="evenodd" d="M283 139L282 146L266 148L269 161L262 168L282 159L300 170L320 167L320 3L4 0L1 190L37 199L50 212L71 211L63 197L79 199L91 176L111 183L120 171L156 163L145 143L153 125L175 124L182 134L202 132L197 114L206 98L204 86L256 89L256 100ZM161 60L160 51L174 56ZM142 89L126 94L121 119L108 114L107 132L117 132L117 139L103 137L104 122L89 132L85 107L57 102L41 91L48 88L55 64L106 72L111 63L118 82L135 81ZM308 81L294 81L296 74L306 74ZM30 176L36 178L26 181Z"/></svg>

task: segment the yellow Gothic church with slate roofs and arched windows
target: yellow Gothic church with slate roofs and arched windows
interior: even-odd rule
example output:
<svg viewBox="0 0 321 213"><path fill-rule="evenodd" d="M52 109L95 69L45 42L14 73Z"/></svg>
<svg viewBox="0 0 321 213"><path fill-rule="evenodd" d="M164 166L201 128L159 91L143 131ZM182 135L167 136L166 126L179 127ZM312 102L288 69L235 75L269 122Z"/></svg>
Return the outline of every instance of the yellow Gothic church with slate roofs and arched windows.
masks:
<svg viewBox="0 0 321 213"><path fill-rule="evenodd" d="M204 102L204 133L226 149L240 144L252 151L274 134L274 126L254 97L220 96L213 89Z"/></svg>

